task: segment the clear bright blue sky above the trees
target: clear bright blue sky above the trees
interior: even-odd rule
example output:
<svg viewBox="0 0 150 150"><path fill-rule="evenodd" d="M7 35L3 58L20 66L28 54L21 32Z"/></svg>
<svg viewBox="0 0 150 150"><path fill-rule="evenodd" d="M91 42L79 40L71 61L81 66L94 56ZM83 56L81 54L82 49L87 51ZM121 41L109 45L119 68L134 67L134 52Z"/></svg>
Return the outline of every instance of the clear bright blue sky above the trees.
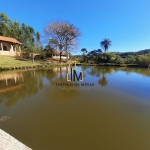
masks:
<svg viewBox="0 0 150 150"><path fill-rule="evenodd" d="M42 36L54 20L74 24L82 32L76 54L101 49L104 38L112 41L110 52L150 48L150 0L3 0L0 5L0 13Z"/></svg>

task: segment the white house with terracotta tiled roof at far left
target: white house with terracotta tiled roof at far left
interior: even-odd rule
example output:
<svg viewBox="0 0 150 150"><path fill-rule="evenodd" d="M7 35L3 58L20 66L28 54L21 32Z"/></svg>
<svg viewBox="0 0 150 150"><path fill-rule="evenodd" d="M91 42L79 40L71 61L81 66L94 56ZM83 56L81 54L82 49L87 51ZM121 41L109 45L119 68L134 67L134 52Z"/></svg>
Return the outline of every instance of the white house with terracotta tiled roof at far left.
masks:
<svg viewBox="0 0 150 150"><path fill-rule="evenodd" d="M14 38L0 36L0 55L16 56L21 54L20 43ZM16 47L20 52L16 51Z"/></svg>

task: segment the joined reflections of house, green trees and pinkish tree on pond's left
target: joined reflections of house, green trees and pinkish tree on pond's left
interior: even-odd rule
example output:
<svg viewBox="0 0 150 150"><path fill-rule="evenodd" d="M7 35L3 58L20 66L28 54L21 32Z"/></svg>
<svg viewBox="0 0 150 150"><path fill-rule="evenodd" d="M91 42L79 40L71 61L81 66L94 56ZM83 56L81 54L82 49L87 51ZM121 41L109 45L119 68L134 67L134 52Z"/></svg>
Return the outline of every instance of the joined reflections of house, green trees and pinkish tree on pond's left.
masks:
<svg viewBox="0 0 150 150"><path fill-rule="evenodd" d="M42 70L30 70L23 72L6 72L0 74L0 104L6 107L17 104L19 100L35 95L44 89L44 95L50 100L69 101L76 97L78 90L68 87L57 87L56 83L65 83L66 67L57 67ZM44 79L47 79L44 81ZM44 85L44 82L47 82Z"/></svg>

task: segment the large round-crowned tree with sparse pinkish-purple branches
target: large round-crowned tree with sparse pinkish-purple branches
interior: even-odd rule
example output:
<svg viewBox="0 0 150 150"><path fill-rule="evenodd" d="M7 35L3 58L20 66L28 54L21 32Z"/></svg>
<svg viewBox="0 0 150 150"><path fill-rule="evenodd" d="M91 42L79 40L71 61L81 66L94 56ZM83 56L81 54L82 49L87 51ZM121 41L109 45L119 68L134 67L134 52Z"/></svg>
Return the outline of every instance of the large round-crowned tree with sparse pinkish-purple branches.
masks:
<svg viewBox="0 0 150 150"><path fill-rule="evenodd" d="M69 54L69 49L77 45L77 38L81 35L79 29L77 29L73 24L63 21L54 21L49 23L44 29L45 38L47 43L54 46L61 54L63 51Z"/></svg>

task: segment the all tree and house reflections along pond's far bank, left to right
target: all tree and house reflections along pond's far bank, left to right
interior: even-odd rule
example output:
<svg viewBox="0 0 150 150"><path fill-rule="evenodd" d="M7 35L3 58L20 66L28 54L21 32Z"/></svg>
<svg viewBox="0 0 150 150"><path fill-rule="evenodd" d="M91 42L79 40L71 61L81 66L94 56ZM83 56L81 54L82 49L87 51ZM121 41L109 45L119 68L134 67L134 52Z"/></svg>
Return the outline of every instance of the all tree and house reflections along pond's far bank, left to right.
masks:
<svg viewBox="0 0 150 150"><path fill-rule="evenodd" d="M143 76L150 76L150 71L143 68L82 66L78 67L78 69L84 72L84 78L86 78L88 74L96 77L97 83L102 87L109 85L108 75L119 72L120 70L127 74L135 72ZM56 83L66 82L67 70L67 67L56 67L41 70L0 73L0 104L4 103L6 107L10 107L17 104L19 100L35 95L42 89L44 89L44 94L50 100L56 101L56 95L57 101L59 102L70 101L78 97L81 93L80 89L77 90L78 87L56 86ZM44 85L44 78L48 86Z"/></svg>

